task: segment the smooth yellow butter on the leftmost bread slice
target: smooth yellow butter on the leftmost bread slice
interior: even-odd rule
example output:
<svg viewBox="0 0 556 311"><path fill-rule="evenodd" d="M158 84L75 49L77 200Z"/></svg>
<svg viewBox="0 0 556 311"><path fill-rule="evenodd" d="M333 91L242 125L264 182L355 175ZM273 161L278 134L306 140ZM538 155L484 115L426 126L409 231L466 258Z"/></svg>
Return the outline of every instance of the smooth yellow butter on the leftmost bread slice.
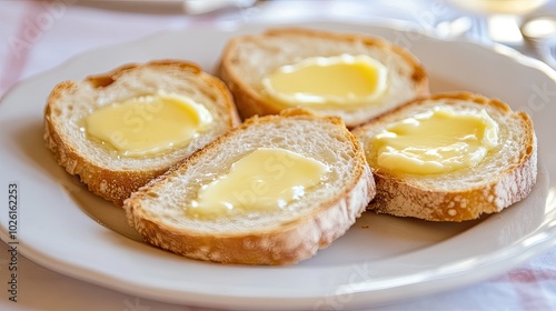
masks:
<svg viewBox="0 0 556 311"><path fill-rule="evenodd" d="M187 144L211 122L205 106L186 96L159 91L92 111L85 119L85 129L122 157L143 157Z"/></svg>

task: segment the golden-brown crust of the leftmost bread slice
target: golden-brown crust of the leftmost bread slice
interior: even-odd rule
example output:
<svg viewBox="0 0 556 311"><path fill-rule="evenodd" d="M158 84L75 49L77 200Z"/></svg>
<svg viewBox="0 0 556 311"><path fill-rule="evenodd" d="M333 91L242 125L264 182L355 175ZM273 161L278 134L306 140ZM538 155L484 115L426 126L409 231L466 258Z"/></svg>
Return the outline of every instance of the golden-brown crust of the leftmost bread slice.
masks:
<svg viewBox="0 0 556 311"><path fill-rule="evenodd" d="M110 86L123 74L147 67L160 70L173 68L188 71L190 74L198 76L199 79L205 79L206 83L212 83L215 88L219 90L221 97L226 99L226 108L222 110L228 114L227 120L224 120L227 122L227 127L232 128L240 123L239 116L237 114L231 94L227 87L219 79L203 73L197 64L191 62L157 60L147 63L130 63L118 67L105 74L89 76L83 82L100 90ZM96 161L90 159L90 154L86 154L79 150L72 138L63 132L60 122L64 120L57 118L61 109L68 109L67 107L60 107L58 100L61 97L71 96L77 88L79 88L78 82L63 81L51 91L44 108L43 139L46 146L51 150L57 162L63 167L68 173L78 175L91 192L121 207L123 200L129 198L131 192L145 185L155 177L163 173L168 170L169 165L161 164L153 169L136 168L133 170L113 170L96 164Z"/></svg>

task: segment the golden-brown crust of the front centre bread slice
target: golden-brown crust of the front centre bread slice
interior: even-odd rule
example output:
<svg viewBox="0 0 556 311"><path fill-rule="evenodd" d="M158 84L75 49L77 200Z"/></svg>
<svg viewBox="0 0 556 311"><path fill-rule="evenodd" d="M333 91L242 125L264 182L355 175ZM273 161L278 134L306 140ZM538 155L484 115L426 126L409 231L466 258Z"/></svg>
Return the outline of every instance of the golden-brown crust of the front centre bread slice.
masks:
<svg viewBox="0 0 556 311"><path fill-rule="evenodd" d="M365 211L368 201L375 195L375 182L365 156L355 137L347 131L338 118L326 118L345 129L342 139L353 144L357 167L353 178L346 181L344 191L325 199L310 213L291 219L280 227L237 233L203 232L192 228L175 228L156 221L145 211L143 199L167 188L172 178L187 173L188 167L203 160L205 153L247 128L280 119L319 118L298 109L289 109L281 116L254 117L232 131L221 136L206 148L197 151L183 162L175 165L165 174L149 182L130 199L125 209L128 222L152 245L193 259L238 264L292 264L312 257L342 235Z"/></svg>

